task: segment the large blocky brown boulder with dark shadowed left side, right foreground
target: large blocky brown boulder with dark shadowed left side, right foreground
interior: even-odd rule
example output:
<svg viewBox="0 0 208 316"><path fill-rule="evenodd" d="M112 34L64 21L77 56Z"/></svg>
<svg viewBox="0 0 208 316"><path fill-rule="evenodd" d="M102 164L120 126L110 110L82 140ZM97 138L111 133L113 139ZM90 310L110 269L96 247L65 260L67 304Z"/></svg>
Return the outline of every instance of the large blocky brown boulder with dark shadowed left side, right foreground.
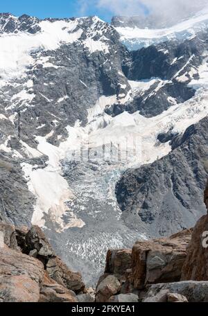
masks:
<svg viewBox="0 0 208 316"><path fill-rule="evenodd" d="M180 281L191 234L192 229L185 229L169 238L138 241L132 248L133 288Z"/></svg>

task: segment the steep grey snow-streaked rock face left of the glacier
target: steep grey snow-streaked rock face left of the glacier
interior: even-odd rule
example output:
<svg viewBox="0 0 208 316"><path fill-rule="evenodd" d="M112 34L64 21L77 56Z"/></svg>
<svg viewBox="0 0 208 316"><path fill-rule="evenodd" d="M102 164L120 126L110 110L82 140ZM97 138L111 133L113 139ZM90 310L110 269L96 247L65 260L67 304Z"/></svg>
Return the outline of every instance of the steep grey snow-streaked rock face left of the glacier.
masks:
<svg viewBox="0 0 208 316"><path fill-rule="evenodd" d="M62 43L58 40L51 49L46 41L40 42L42 34L46 34L47 41L52 39L55 43L53 31L44 33L44 26L49 30L55 24L57 29L60 27L60 33L68 32L72 39ZM58 146L68 137L67 126L72 127L78 120L82 125L87 123L87 109L96 105L101 96L115 95L119 100L119 94L125 95L130 89L121 69L126 49L116 30L97 17L42 21L27 15L0 14L2 34L9 34L13 41L19 38L20 50L24 42L29 45L31 35L37 40L37 47L29 48L25 56L30 60L26 69L19 69L20 73L26 71L26 76L21 78L18 73L12 77L12 70L8 71L10 84L3 85L0 97L0 142L1 145L6 142L5 147L1 146L0 157L0 219L29 226L35 196L28 190L21 163L27 159L31 166L37 164L44 168L48 159L34 151L38 145L35 137L48 135L49 142ZM23 42L21 35L26 37ZM19 154L13 155L14 150Z"/></svg>

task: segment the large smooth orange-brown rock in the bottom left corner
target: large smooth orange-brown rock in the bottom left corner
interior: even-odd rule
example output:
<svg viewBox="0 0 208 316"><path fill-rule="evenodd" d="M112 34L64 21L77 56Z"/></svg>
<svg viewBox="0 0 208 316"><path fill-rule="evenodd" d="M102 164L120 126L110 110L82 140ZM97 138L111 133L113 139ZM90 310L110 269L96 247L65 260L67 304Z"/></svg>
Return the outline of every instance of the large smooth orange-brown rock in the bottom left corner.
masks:
<svg viewBox="0 0 208 316"><path fill-rule="evenodd" d="M0 301L35 302L40 298L44 266L7 246L0 249Z"/></svg>

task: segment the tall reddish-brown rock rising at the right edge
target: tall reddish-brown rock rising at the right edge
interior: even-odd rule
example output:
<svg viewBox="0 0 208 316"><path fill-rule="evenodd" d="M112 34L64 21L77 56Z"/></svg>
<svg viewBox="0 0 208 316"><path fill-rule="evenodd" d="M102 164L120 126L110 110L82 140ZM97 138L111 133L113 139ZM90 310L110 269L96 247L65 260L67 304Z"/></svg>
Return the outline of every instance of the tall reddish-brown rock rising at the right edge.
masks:
<svg viewBox="0 0 208 316"><path fill-rule="evenodd" d="M187 258L182 267L182 280L208 280L208 216L202 216L193 229L191 242L187 247ZM205 234L205 235L203 235ZM204 237L203 237L204 236Z"/></svg>

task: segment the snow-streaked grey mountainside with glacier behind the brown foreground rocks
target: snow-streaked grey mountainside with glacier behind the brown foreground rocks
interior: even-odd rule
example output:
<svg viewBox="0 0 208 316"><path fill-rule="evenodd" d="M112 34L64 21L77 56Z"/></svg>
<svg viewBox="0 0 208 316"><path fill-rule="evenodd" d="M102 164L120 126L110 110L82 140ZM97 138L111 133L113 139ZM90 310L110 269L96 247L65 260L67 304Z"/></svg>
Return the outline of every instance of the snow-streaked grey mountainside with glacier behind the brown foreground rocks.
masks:
<svg viewBox="0 0 208 316"><path fill-rule="evenodd" d="M107 249L205 213L205 26L132 52L98 17L0 15L0 217L39 225L87 284Z"/></svg>

